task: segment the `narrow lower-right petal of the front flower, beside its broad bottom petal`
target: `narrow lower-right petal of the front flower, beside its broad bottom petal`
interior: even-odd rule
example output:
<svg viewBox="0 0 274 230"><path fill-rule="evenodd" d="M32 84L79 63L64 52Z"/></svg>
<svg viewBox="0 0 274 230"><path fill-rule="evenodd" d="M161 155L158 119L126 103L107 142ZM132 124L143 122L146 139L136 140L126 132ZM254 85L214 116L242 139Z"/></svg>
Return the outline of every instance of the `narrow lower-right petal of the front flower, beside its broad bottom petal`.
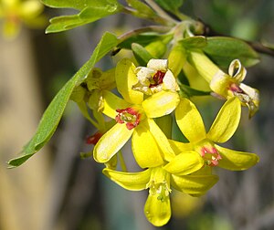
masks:
<svg viewBox="0 0 274 230"><path fill-rule="evenodd" d="M163 152L163 159L167 162L172 161L174 158L174 150L172 149L168 139L163 134L163 131L158 127L153 119L148 119L149 131L153 134L155 141Z"/></svg>

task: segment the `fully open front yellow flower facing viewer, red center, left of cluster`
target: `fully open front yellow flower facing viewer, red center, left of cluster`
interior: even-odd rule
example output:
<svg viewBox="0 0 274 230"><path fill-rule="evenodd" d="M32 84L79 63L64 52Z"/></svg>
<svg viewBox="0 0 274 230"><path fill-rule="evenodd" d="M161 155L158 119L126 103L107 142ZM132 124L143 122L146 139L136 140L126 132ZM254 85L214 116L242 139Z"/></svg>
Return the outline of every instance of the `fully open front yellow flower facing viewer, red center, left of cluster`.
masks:
<svg viewBox="0 0 274 230"><path fill-rule="evenodd" d="M174 92L158 92L143 99L143 93L132 89L138 79L135 67L129 59L122 59L116 68L115 78L120 97L108 90L103 91L102 112L116 120L94 147L93 156L97 162L108 162L132 137L132 152L142 167L155 167L174 157L163 131L153 118L170 114L180 99ZM161 149L161 151L159 150Z"/></svg>

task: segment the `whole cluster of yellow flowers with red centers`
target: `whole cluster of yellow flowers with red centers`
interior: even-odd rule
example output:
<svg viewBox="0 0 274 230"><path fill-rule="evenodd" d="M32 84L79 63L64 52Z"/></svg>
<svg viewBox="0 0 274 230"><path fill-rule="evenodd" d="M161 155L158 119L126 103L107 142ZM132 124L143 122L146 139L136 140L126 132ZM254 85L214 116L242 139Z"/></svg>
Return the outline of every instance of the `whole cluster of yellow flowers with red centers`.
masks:
<svg viewBox="0 0 274 230"><path fill-rule="evenodd" d="M227 98L209 131L195 104L180 94L179 80L169 68L172 61L150 59L147 67L136 68L124 58L107 72L92 69L73 98L78 103L86 101L94 117L100 118L96 122L89 117L99 130L88 140L95 145L95 161L105 163L103 173L121 187L148 190L144 214L156 226L165 225L171 217L174 189L200 196L218 181L213 168L241 171L258 162L255 153L219 145L232 137L241 117L243 100L238 95L244 90L239 82L246 73L238 60L231 64L229 76L217 74L209 81L216 93ZM111 91L115 85L116 93ZM88 117L87 109L79 107ZM111 121L103 122L101 114ZM188 141L172 140L173 118ZM122 160L121 149L130 140L134 159L142 168L138 173L128 172ZM117 170L118 152L121 171Z"/></svg>

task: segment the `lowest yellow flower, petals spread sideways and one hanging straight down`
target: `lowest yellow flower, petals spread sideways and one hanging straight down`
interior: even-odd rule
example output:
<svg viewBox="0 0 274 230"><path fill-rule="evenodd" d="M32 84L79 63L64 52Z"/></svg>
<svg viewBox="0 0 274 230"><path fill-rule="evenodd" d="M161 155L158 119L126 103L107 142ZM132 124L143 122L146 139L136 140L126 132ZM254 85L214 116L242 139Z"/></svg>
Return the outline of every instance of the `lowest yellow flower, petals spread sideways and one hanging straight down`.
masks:
<svg viewBox="0 0 274 230"><path fill-rule="evenodd" d="M165 225L171 217L171 204L169 194L174 188L180 192L191 195L202 195L206 193L217 181L218 177L212 174L191 174L203 163L193 163L193 159L198 160L197 153L192 152L194 156L189 160L189 155L181 157L180 161L175 159L167 163L165 166L149 168L139 173L123 173L104 169L103 173L113 182L118 183L121 187L131 190L140 191L149 189L148 198L144 205L144 214L147 219L155 226ZM196 155L195 155L196 154ZM199 161L199 160L198 160ZM184 168L180 163L194 165L194 167ZM172 165L179 169L176 173L168 171L172 170Z"/></svg>

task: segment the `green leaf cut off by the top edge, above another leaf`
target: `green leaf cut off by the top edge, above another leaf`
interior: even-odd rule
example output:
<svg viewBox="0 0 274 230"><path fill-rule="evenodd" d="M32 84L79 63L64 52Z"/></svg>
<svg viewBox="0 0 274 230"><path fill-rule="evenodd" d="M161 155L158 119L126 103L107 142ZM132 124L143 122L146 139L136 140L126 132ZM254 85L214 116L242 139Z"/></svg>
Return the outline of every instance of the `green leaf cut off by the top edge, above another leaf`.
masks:
<svg viewBox="0 0 274 230"><path fill-rule="evenodd" d="M87 6L100 7L103 5L117 5L117 0L41 0L43 4L56 8L75 8L82 10Z"/></svg>

